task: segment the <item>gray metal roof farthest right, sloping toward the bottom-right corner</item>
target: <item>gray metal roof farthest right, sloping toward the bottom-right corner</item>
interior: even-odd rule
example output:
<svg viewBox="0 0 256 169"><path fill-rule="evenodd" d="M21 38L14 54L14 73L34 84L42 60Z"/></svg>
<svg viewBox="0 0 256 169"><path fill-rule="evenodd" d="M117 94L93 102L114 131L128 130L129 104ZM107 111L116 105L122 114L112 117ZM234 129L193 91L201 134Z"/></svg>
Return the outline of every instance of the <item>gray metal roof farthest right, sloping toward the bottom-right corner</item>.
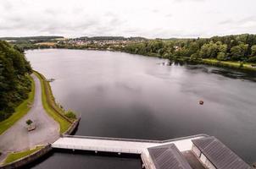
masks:
<svg viewBox="0 0 256 169"><path fill-rule="evenodd" d="M219 139L214 137L192 139L192 143L202 151L203 155L217 169L251 169L246 162L242 161L238 155L221 143Z"/></svg>

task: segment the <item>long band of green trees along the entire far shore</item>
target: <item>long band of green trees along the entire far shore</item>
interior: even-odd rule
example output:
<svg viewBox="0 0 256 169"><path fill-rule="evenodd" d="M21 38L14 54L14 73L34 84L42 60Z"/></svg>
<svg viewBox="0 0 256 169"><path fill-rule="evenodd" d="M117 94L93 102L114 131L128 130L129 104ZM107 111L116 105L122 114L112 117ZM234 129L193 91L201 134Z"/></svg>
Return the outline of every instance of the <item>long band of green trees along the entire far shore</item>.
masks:
<svg viewBox="0 0 256 169"><path fill-rule="evenodd" d="M79 39L88 38L81 37ZM123 37L91 37L92 39L122 39ZM37 42L55 41L56 40L41 40L37 41L14 41L11 42L15 46L19 46L22 50L38 49L38 48L69 48L69 49L99 49L99 50L114 50L141 54L153 57L164 57L170 59L188 58L191 61L200 61L203 58L212 58L219 61L239 61L246 63L256 63L256 35L226 35L214 36L211 38L197 39L143 39L142 42L130 42L122 44L88 44L74 45L67 44L63 41L58 41L54 46L38 45ZM129 38L128 38L129 39Z"/></svg>

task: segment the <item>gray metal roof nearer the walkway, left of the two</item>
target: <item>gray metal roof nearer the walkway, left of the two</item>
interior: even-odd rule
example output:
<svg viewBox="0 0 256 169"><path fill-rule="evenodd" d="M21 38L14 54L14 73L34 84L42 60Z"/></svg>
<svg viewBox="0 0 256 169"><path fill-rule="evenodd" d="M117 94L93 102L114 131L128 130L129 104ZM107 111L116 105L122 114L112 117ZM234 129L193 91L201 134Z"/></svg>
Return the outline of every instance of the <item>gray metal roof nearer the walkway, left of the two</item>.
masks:
<svg viewBox="0 0 256 169"><path fill-rule="evenodd" d="M147 149L156 169L192 169L175 144Z"/></svg>

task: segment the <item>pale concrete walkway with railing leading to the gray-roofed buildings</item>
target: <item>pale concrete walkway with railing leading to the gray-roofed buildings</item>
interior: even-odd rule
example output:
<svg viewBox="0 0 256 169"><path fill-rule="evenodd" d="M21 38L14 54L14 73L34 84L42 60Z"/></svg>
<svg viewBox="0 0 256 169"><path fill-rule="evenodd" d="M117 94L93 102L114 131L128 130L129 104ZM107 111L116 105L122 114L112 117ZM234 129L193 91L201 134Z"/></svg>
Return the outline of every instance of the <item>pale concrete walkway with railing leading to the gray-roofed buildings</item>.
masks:
<svg viewBox="0 0 256 169"><path fill-rule="evenodd" d="M87 150L97 152L117 153L118 155L133 154L141 155L143 167L154 168L148 148L175 144L180 151L192 150L192 139L207 137L205 134L198 134L179 139L167 139L164 141L147 139L118 139L90 136L64 135L52 144L55 149L65 150Z"/></svg>

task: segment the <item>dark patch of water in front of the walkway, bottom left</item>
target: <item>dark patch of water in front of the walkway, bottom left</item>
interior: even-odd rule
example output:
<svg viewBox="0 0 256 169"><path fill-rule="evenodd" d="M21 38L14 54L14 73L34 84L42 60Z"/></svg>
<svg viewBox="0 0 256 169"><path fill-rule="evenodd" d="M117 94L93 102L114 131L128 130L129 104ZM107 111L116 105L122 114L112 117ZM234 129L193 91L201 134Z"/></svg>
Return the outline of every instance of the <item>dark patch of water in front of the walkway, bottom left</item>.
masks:
<svg viewBox="0 0 256 169"><path fill-rule="evenodd" d="M97 169L132 169L142 168L142 162L136 155L113 155L98 153L97 155L86 151L67 151L55 150L48 153L36 162L33 162L23 168L97 168ZM46 162L47 161L47 162Z"/></svg>

